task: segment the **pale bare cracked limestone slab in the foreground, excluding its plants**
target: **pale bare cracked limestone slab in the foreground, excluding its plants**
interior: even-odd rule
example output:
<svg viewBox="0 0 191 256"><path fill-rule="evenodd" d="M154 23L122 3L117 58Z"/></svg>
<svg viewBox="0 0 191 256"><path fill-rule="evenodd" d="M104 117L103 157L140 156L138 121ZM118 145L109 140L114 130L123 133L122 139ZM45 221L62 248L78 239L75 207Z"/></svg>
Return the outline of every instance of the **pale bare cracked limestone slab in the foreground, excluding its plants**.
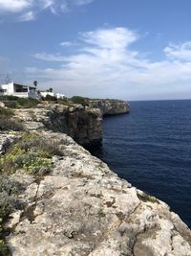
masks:
<svg viewBox="0 0 191 256"><path fill-rule="evenodd" d="M11 176L22 185L18 199L25 205L6 223L11 255L191 255L191 231L168 205L120 179L71 137L37 133L63 156L53 156L49 175ZM14 136L2 136L2 152Z"/></svg>

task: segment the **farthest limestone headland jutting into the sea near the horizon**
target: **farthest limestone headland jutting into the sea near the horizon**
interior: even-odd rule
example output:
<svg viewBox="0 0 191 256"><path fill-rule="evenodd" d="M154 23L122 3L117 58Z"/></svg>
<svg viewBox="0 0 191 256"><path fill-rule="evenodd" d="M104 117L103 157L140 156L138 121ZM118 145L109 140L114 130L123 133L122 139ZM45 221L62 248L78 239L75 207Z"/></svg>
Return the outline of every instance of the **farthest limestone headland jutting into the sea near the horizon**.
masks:
<svg viewBox="0 0 191 256"><path fill-rule="evenodd" d="M91 100L90 105L99 108L103 116L124 114L130 111L128 103L119 100Z"/></svg>

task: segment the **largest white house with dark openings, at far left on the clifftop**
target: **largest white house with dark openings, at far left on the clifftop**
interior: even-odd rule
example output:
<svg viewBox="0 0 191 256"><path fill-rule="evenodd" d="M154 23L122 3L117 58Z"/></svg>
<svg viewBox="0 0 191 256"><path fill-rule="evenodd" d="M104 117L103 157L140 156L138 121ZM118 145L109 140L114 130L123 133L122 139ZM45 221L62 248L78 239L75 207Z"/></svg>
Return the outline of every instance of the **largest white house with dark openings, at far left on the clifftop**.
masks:
<svg viewBox="0 0 191 256"><path fill-rule="evenodd" d="M38 99L35 86L23 85L14 81L0 85L0 95L11 95L21 98Z"/></svg>

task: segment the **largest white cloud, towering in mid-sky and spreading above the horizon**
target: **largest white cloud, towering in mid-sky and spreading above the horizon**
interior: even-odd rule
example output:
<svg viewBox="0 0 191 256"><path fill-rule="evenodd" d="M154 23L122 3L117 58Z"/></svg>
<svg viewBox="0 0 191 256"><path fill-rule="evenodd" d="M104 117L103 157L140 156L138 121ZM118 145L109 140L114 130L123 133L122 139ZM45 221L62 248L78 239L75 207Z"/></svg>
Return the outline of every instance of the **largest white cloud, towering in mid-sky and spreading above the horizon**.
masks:
<svg viewBox="0 0 191 256"><path fill-rule="evenodd" d="M68 95L148 99L157 98L163 91L173 98L175 94L179 96L180 92L191 90L191 61L182 58L151 61L132 50L138 38L137 33L126 28L82 33L81 48L78 45L74 55L42 53L33 56L48 61L46 66L58 61L57 68L31 68L26 73L38 77L47 86L51 82L55 90Z"/></svg>

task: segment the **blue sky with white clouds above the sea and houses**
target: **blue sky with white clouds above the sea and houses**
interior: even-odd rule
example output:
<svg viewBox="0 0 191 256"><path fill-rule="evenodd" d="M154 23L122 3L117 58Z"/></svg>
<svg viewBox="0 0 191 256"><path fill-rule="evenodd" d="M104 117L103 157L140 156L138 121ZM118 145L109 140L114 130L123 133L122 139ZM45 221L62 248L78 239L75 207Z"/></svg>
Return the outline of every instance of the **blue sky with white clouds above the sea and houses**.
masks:
<svg viewBox="0 0 191 256"><path fill-rule="evenodd" d="M191 99L190 11L190 0L0 0L0 82Z"/></svg>

